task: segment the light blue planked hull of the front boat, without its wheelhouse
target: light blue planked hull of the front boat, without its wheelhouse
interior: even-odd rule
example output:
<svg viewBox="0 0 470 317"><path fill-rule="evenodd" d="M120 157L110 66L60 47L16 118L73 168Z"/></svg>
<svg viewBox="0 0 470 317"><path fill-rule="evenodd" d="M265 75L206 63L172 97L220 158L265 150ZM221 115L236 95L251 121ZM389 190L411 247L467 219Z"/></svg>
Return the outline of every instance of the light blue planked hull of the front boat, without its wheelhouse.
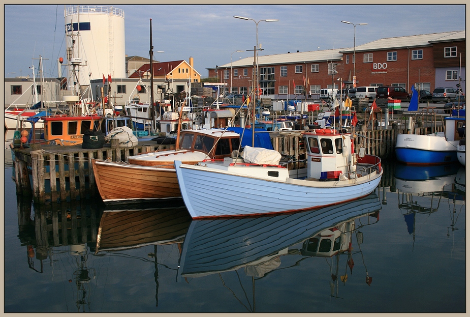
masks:
<svg viewBox="0 0 470 317"><path fill-rule="evenodd" d="M381 169L365 177L339 182L291 178L271 181L249 176L258 172L243 165L232 166L237 169L233 174L180 161L175 161L175 168L184 204L193 219L293 212L334 205L371 193L383 174Z"/></svg>

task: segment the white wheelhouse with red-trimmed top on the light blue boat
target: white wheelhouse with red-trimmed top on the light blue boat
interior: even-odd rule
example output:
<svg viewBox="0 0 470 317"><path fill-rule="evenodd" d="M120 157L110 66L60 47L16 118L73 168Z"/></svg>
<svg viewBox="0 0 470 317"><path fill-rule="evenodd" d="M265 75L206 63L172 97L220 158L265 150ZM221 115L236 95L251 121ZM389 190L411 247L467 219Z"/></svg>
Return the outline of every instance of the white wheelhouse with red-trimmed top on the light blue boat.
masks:
<svg viewBox="0 0 470 317"><path fill-rule="evenodd" d="M307 149L307 178L338 180L351 163L350 134L334 129L316 129L304 134ZM352 164L351 164L352 165Z"/></svg>

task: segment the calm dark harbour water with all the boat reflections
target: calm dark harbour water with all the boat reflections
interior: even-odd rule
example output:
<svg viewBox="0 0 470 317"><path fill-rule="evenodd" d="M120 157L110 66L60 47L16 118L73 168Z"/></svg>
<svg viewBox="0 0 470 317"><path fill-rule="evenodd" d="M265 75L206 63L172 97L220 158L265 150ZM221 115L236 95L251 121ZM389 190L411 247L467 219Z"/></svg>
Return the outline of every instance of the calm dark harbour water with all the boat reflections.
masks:
<svg viewBox="0 0 470 317"><path fill-rule="evenodd" d="M465 169L385 168L356 203L192 222L181 203L36 208L7 162L4 310L465 312Z"/></svg>

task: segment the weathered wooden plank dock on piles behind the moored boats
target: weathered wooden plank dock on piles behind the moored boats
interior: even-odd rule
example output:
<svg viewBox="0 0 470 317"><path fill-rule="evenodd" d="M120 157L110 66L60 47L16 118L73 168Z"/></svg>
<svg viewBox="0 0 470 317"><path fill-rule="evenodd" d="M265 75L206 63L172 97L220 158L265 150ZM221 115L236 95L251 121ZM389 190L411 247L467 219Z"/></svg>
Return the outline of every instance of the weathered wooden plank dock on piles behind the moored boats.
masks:
<svg viewBox="0 0 470 317"><path fill-rule="evenodd" d="M404 125L401 125L404 126ZM417 127L415 134L443 131L442 125ZM406 128L362 129L355 131L356 151L365 148L366 154L382 159L394 156L397 134ZM274 150L294 158L296 167L303 167L306 153L300 131L272 132ZM93 175L91 159L114 162L127 160L130 155L172 149L173 145L157 145L153 141L141 142L131 148L112 148L109 143L102 149L82 149L80 146L41 145L29 149L13 149L16 192L18 196L32 196L36 204L60 203L99 197ZM116 175L116 177L119 177Z"/></svg>

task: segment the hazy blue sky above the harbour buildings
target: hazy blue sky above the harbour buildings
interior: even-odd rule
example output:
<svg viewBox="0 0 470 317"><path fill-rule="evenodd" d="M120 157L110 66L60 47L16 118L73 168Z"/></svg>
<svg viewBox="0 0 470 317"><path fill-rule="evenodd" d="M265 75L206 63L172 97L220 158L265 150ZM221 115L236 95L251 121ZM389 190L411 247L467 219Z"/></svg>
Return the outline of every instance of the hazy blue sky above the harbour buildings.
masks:
<svg viewBox="0 0 470 317"><path fill-rule="evenodd" d="M189 60L207 77L206 68L253 55L259 22L260 55L353 47L388 37L465 30L465 6L457 5L115 5L124 10L126 54L149 57L149 19L158 61ZM42 55L45 76L55 77L65 57L64 5L4 5L6 77L32 75ZM21 70L21 71L20 71ZM13 74L14 73L14 74Z"/></svg>

